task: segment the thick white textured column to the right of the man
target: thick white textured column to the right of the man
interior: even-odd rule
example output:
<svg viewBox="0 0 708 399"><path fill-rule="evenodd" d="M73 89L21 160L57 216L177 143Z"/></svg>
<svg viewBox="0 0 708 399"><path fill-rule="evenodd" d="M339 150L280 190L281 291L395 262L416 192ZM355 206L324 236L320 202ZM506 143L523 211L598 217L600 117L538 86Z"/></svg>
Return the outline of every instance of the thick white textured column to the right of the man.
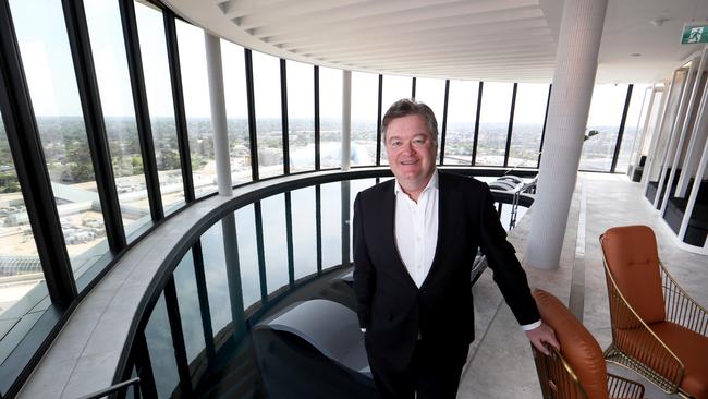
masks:
<svg viewBox="0 0 708 399"><path fill-rule="evenodd" d="M556 52L538 194L524 263L559 265L590 109L607 0L566 0Z"/></svg>

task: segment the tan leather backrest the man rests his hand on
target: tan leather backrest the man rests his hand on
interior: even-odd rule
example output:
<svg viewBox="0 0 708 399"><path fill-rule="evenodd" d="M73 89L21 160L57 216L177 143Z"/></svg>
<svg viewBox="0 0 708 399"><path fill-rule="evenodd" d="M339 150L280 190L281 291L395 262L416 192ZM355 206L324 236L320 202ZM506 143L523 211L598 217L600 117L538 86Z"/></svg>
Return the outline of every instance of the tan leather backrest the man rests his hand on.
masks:
<svg viewBox="0 0 708 399"><path fill-rule="evenodd" d="M558 298L538 289L534 290L533 295L541 319L556 330L561 354L581 380L588 398L608 398L607 366L602 350L593 335Z"/></svg>

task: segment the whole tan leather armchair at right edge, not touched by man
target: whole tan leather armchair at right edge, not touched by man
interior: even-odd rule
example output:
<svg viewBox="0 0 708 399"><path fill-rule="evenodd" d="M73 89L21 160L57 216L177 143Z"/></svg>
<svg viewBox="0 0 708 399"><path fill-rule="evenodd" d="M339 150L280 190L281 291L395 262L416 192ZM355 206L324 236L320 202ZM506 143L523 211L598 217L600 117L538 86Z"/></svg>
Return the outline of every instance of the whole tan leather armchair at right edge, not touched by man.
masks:
<svg viewBox="0 0 708 399"><path fill-rule="evenodd" d="M605 358L668 394L708 399L708 313L659 261L646 226L600 235L612 323Z"/></svg>

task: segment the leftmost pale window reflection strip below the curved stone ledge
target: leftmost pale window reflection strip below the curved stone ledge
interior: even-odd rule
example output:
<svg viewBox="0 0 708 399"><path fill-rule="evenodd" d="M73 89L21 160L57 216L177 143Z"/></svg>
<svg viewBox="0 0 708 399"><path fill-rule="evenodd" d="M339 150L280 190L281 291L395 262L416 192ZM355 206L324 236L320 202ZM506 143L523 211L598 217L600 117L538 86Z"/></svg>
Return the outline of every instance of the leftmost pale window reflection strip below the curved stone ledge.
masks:
<svg viewBox="0 0 708 399"><path fill-rule="evenodd" d="M152 309L147 326L145 326L145 338L150 354L155 385L160 398L170 398L176 388L180 377L174 358L174 346L170 334L170 322L167 316L164 293Z"/></svg>

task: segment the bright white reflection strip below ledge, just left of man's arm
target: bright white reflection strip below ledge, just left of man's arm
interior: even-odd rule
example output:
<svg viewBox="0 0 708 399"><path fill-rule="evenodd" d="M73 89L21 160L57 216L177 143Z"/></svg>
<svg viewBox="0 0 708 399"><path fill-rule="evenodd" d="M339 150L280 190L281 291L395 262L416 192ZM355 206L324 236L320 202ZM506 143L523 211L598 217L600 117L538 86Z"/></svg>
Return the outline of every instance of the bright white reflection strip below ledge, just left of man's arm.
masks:
<svg viewBox="0 0 708 399"><path fill-rule="evenodd" d="M321 185L322 269L342 264L341 183Z"/></svg>

